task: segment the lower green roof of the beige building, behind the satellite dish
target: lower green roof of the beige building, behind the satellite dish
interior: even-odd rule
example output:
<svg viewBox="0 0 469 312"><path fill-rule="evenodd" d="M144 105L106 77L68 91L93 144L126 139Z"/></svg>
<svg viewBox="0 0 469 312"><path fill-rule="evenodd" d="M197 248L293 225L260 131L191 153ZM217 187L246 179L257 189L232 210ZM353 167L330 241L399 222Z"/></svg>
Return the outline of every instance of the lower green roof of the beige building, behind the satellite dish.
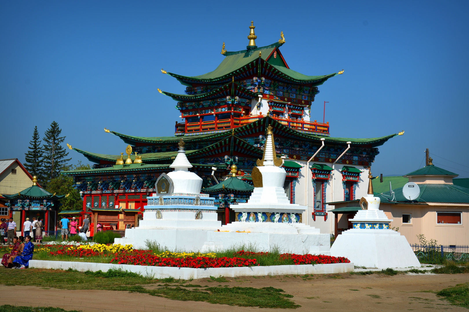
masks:
<svg viewBox="0 0 469 312"><path fill-rule="evenodd" d="M416 199L416 203L469 203L469 189L467 188L452 184L419 184L418 186L420 187L420 195ZM396 201L411 203L402 194L402 187L393 188L393 191ZM375 193L375 196L381 199L381 203L396 203L396 201L389 201L389 191L383 194L387 196Z"/></svg>

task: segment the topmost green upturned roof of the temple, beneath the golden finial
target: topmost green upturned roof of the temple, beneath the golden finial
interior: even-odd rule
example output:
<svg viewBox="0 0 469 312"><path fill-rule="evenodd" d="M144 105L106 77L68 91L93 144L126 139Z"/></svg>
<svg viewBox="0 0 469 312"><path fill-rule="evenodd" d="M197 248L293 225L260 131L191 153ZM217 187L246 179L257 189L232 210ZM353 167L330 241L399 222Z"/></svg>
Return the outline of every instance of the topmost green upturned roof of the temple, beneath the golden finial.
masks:
<svg viewBox="0 0 469 312"><path fill-rule="evenodd" d="M234 77L234 80L240 80L248 75L255 74L259 62L262 67L271 72L271 78L280 81L290 81L297 83L312 83L313 87L323 84L330 77L335 76L337 73L322 75L322 76L309 76L298 73L290 68L273 65L266 61L269 56L277 49L280 43L274 43L263 47L255 48L250 56L246 56L246 50L237 52L225 52L225 59L219 64L215 70L207 74L198 76L183 76L179 74L169 73L168 75L176 78L184 85L192 86L193 83L220 83L228 82ZM261 56L259 56L259 52Z"/></svg>

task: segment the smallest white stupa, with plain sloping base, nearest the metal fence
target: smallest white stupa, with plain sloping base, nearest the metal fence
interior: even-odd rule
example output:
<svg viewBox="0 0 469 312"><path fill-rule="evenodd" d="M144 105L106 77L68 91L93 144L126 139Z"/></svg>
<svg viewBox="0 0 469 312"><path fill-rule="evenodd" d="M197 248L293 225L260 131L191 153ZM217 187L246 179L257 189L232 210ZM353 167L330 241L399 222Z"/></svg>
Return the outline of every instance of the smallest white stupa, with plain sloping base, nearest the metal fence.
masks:
<svg viewBox="0 0 469 312"><path fill-rule="evenodd" d="M391 221L379 210L379 197L373 196L371 172L368 196L362 197L352 222L353 229L338 235L331 247L331 255L346 257L358 267L420 267L405 236L389 229Z"/></svg>

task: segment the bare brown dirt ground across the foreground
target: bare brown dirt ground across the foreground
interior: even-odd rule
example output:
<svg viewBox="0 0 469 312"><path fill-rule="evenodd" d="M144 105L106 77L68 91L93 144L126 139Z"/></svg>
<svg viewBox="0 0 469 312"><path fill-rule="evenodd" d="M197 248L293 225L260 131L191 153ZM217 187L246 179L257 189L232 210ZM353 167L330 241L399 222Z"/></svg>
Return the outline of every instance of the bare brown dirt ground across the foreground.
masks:
<svg viewBox="0 0 469 312"><path fill-rule="evenodd" d="M190 283L202 286L230 285L241 287L281 288L296 304L288 311L428 311L429 308L449 311L468 309L449 305L425 290L441 290L469 281L469 274L456 275L315 275L303 280L300 276L260 276L227 278L231 282L207 282L207 279ZM153 288L156 285L146 285ZM54 306L65 310L83 312L245 312L271 311L257 307L213 305L206 302L174 301L148 294L108 290L57 290L31 286L0 286L0 305ZM275 310L279 311L279 310Z"/></svg>

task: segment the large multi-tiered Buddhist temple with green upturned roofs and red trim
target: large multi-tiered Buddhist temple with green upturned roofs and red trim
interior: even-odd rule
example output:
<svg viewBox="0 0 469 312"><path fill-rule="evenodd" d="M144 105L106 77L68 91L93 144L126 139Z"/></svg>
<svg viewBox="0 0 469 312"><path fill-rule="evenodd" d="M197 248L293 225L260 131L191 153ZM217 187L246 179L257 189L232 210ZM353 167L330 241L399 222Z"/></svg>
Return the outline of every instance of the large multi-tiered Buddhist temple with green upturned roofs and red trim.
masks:
<svg viewBox="0 0 469 312"><path fill-rule="evenodd" d="M158 89L175 100L181 113L182 122L175 122L174 136L156 133L142 137L105 128L128 145L127 156L69 146L94 163L91 170L62 172L73 176L83 196L83 213L98 207L143 211L146 197L156 192L156 180L172 171L169 166L184 138L185 155L192 165L188 170L203 179L201 193L215 197L218 220L231 223L233 205L245 203L250 196L243 183L252 183L252 170L263 157L270 126L275 153L287 172L283 186L287 199L305 206L302 223L333 233L334 218L328 218L326 202L364 196L378 147L398 134L366 139L332 137L328 122L320 123L310 116L311 105L318 88L344 71L324 75L296 72L280 52L286 44L283 32L279 31L280 39L274 43L258 47L256 40L261 38L255 35L255 28L251 22L245 50L229 52L229 44L223 43L221 56L213 52L222 60L209 73L186 76L161 70L185 87L182 94ZM233 180L233 165L235 178L242 181ZM226 178L231 182L223 183Z"/></svg>

